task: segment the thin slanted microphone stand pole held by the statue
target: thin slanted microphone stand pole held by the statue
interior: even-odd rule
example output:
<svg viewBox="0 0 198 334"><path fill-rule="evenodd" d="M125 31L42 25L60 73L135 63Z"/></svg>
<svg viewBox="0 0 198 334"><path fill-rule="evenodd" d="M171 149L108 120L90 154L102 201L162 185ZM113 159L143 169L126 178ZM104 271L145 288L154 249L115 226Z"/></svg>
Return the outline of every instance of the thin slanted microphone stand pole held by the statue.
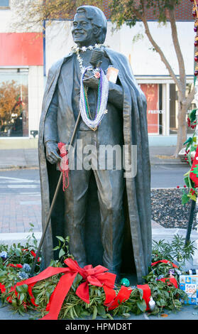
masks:
<svg viewBox="0 0 198 334"><path fill-rule="evenodd" d="M75 139L75 134L76 134L76 132L77 132L77 126L78 126L78 124L79 124L80 116L81 116L81 114L80 114L80 111L79 111L79 114L78 114L78 117L77 117L77 121L76 121L76 124L75 124L75 129L74 129L74 131L73 131L72 138L71 138L71 141L70 141L70 145L69 145L69 147L68 147L68 153L70 152L70 147L72 146L73 141L74 141L74 139ZM42 235L42 237L41 237L41 239L40 239L40 243L39 243L39 245L38 245L38 251L37 251L36 254L35 254L35 259L34 259L34 262L33 262L33 266L32 266L32 268L31 268L31 273L30 273L30 276L31 276L31 277L33 276L33 273L34 273L34 270L35 270L35 264L36 264L36 262L38 261L38 256L39 256L39 254L40 254L40 249L41 249L41 247L43 246L43 240L45 239L45 235L46 235L46 232L47 232L47 230L48 230L48 226L49 226L49 223L50 223L50 217L51 217L52 212L53 212L53 208L54 208L54 205L55 205L55 200L56 200L56 198L57 198L58 190L59 190L59 188L60 188L60 184L61 184L61 183L62 183L62 172L60 173L60 178L59 178L59 180L58 180L58 182L57 182L57 187L56 187L56 189L55 189L55 194L54 194L54 197L53 197L53 201L52 201L52 204L51 204L51 206L50 206L50 211L49 211L49 213L48 213L47 222L46 222L46 224L45 224L45 228L44 228L44 230L43 230L43 235Z"/></svg>

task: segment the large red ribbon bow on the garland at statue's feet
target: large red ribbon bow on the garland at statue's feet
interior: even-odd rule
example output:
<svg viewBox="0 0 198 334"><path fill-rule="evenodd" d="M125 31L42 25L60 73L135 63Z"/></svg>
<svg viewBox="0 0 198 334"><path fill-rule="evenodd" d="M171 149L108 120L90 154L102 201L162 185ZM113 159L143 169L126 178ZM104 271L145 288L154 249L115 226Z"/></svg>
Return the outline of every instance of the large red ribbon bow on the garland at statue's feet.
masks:
<svg viewBox="0 0 198 334"><path fill-rule="evenodd" d="M50 305L48 304L49 313L41 320L57 320L62 303L78 273L85 281L78 286L76 294L86 303L89 303L89 284L94 286L103 286L104 288L107 286L110 289L114 289L116 275L106 272L108 269L106 269L104 266L99 265L93 268L92 265L88 265L84 266L84 268L81 268L76 261L70 258L65 260L65 264L67 264L68 268L49 266L37 276L31 277L31 279L26 279L25 281L21 281L16 284L16 286L27 284L29 288L28 291L32 297L31 300L34 301L31 288L36 282L41 281L42 279L47 279L48 277L55 274L65 273L65 275L60 277L60 280L55 287L55 291L53 292L53 296L50 298ZM107 295L106 299L108 298L109 297Z"/></svg>

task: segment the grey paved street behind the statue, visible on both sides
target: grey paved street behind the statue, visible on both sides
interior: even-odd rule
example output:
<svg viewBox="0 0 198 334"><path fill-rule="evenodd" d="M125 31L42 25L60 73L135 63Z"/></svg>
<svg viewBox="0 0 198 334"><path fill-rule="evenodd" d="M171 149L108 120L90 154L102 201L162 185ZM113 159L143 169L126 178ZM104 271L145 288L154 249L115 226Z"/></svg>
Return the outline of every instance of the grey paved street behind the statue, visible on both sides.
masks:
<svg viewBox="0 0 198 334"><path fill-rule="evenodd" d="M183 186L185 164L151 166L151 188ZM38 169L0 171L0 233L41 231L40 181Z"/></svg>

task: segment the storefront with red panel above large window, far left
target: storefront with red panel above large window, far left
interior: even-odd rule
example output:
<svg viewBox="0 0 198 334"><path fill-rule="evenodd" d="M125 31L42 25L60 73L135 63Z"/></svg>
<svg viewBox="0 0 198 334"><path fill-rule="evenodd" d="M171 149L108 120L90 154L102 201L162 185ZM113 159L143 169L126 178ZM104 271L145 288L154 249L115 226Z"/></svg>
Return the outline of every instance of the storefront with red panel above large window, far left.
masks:
<svg viewBox="0 0 198 334"><path fill-rule="evenodd" d="M0 148L37 146L43 99L43 35L11 30L12 0L0 0Z"/></svg>

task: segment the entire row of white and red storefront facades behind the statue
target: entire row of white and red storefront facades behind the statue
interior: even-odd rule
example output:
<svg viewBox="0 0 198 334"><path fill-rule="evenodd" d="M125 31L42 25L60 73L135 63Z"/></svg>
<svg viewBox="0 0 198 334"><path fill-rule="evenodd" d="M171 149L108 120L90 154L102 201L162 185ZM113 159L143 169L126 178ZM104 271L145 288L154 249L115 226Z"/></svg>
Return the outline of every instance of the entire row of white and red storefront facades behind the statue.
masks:
<svg viewBox="0 0 198 334"><path fill-rule="evenodd" d="M50 66L70 52L73 45L72 20L55 20L42 31L9 31L12 0L0 0L0 95L9 95L9 105L1 106L0 148L7 143L36 145L43 89ZM105 14L108 19L106 45L126 55L131 63L138 85L148 102L148 134L150 146L175 145L177 140L177 87L144 34L143 23L133 28L123 25L112 33L108 1ZM194 74L194 18L192 3L183 0L176 11L177 33L185 60L187 90L192 89ZM1 19L2 18L2 19ZM177 56L172 45L170 23L160 26L148 11L148 25L153 38L160 45L176 75L179 75ZM43 43L44 41L44 43ZM7 98L2 95L2 99ZM194 104L192 102L192 108ZM190 130L189 134L190 134ZM34 139L35 136L35 139ZM11 139L17 139L11 140ZM19 148L19 147L18 147Z"/></svg>

